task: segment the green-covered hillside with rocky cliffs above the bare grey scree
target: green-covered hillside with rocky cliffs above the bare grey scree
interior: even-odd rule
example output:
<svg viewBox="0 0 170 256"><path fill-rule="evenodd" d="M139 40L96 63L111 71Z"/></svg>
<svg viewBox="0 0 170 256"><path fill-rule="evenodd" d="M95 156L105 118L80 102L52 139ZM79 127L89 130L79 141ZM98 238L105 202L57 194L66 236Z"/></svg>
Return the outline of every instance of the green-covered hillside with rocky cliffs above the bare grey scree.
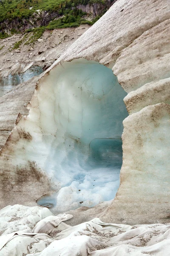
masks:
<svg viewBox="0 0 170 256"><path fill-rule="evenodd" d="M2 0L0 38L41 27L93 25L116 0Z"/></svg>

